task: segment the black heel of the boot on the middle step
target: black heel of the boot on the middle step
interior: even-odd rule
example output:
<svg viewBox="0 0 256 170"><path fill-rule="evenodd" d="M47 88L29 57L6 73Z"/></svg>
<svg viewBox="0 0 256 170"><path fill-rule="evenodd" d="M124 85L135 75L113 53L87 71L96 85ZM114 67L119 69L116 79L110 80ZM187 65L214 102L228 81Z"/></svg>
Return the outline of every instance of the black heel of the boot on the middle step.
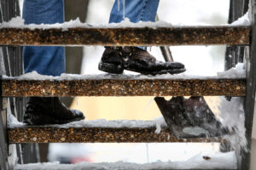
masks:
<svg viewBox="0 0 256 170"><path fill-rule="evenodd" d="M103 63L102 61L99 63L99 70L113 74L122 74L124 72L124 68L121 65Z"/></svg>

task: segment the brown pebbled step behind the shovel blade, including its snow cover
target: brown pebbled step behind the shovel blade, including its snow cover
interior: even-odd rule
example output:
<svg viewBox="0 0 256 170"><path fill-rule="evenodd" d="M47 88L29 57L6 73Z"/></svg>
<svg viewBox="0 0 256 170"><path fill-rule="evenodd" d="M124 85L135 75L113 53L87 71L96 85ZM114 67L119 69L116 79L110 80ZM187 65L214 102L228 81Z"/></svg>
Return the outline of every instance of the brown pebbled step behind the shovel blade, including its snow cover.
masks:
<svg viewBox="0 0 256 170"><path fill-rule="evenodd" d="M167 129L166 124L156 124L155 121L96 120L72 122L59 126L10 125L8 138L10 144L226 142L220 137L177 139Z"/></svg>

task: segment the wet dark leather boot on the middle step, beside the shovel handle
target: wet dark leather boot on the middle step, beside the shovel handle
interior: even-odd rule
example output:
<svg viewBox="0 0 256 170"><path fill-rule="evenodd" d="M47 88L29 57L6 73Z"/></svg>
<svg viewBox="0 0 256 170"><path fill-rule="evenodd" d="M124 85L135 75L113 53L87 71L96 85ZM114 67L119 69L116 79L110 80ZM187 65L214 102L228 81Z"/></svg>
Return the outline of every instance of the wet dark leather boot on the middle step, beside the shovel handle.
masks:
<svg viewBox="0 0 256 170"><path fill-rule="evenodd" d="M178 62L161 62L146 50L137 47L106 47L99 63L99 70L122 74L124 70L136 71L145 75L177 74L185 71Z"/></svg>

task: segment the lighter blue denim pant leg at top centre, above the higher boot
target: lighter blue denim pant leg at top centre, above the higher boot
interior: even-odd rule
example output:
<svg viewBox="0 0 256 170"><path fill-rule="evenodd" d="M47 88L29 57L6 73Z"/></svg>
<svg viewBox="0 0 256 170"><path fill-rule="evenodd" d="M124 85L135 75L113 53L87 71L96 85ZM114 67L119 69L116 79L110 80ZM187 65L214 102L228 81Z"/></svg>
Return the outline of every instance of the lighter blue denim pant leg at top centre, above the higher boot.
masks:
<svg viewBox="0 0 256 170"><path fill-rule="evenodd" d="M131 22L155 21L155 15L159 5L159 0L125 0L125 10L123 0L115 0L111 10L109 23L119 23L125 18ZM146 47L138 47L146 50Z"/></svg>

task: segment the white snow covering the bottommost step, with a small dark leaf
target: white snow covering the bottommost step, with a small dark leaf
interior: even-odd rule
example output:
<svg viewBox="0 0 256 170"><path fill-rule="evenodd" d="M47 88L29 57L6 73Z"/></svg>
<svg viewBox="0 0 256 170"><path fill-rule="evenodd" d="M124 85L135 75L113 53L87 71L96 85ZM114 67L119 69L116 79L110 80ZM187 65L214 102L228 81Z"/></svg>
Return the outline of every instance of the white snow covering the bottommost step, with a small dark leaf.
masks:
<svg viewBox="0 0 256 170"><path fill-rule="evenodd" d="M209 159L204 159L207 157ZM123 161L118 161L114 163L89 163L82 162L77 164L60 164L59 162L52 163L33 163L27 165L17 165L15 169L19 170L34 170L34 169L42 169L42 170L133 170L133 169L141 169L141 170L149 170L149 169L236 169L236 154L235 151L227 152L227 153L216 153L212 155L198 155L190 158L188 161L156 161L154 163L147 164L137 164L137 163L127 163Z"/></svg>

